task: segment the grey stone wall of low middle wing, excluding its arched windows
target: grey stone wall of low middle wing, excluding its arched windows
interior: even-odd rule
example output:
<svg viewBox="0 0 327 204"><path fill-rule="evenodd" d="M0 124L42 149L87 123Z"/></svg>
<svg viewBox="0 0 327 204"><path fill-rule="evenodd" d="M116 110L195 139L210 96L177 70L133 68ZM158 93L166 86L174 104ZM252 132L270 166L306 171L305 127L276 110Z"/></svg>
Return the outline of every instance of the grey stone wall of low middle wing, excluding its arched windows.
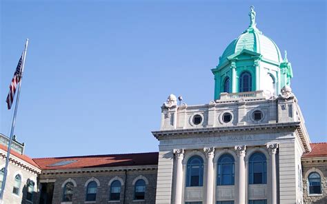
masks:
<svg viewBox="0 0 327 204"><path fill-rule="evenodd" d="M83 171L83 172L80 172ZM135 181L137 179L146 181L145 199L137 201L134 199ZM122 181L121 194L119 201L110 201L110 181ZM41 187L47 183L54 184L53 196L51 198L54 204L63 202L63 186L67 181L73 181L76 184L72 203L155 203L155 193L157 185L157 167L140 167L139 169L122 168L121 170L112 171L110 169L99 170L61 170L57 172L43 171L39 176L39 192ZM86 186L88 181L96 181L97 197L96 201L86 202ZM38 200L40 200L40 194ZM45 201L46 199L44 199ZM45 203L49 202L45 201ZM70 202L66 202L70 203Z"/></svg>

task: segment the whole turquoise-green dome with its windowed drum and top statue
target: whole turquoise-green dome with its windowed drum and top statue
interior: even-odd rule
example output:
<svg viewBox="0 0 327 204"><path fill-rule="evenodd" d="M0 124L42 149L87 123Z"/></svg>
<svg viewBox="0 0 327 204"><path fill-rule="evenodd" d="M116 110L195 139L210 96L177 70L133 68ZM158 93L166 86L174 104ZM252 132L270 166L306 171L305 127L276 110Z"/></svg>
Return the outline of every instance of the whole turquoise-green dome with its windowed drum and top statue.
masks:
<svg viewBox="0 0 327 204"><path fill-rule="evenodd" d="M276 43L257 28L254 6L248 14L250 25L224 50L212 73L215 75L215 99L222 92L264 90L277 96L284 85L290 85L292 68L283 60Z"/></svg>

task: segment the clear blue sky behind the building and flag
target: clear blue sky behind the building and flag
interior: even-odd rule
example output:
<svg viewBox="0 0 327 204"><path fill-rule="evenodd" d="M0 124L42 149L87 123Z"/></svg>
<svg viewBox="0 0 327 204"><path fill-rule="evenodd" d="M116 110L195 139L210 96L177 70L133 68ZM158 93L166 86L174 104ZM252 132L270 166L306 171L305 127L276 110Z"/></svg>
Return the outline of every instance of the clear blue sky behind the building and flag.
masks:
<svg viewBox="0 0 327 204"><path fill-rule="evenodd" d="M249 23L288 51L313 142L327 141L325 1L1 1L0 132L25 39L17 139L32 157L157 151L168 94L213 99L210 72Z"/></svg>

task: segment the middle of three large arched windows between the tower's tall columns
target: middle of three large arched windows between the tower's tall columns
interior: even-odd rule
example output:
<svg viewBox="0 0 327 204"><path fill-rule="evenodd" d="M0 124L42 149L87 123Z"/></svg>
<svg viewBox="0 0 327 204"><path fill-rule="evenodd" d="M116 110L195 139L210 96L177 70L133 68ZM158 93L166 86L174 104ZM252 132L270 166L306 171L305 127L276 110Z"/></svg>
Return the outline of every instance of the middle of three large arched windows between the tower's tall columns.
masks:
<svg viewBox="0 0 327 204"><path fill-rule="evenodd" d="M230 154L223 154L218 160L218 181L217 185L234 185L235 167L234 157Z"/></svg>

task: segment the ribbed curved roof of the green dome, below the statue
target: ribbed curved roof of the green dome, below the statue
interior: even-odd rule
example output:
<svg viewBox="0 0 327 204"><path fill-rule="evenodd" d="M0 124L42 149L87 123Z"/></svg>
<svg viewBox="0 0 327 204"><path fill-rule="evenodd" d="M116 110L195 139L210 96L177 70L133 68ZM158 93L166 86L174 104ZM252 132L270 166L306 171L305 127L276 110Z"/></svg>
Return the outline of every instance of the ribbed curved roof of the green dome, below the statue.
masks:
<svg viewBox="0 0 327 204"><path fill-rule="evenodd" d="M261 54L264 59L277 63L282 61L279 48L273 40L261 34L259 30L251 30L250 32L247 30L227 46L226 50L221 55L219 65L228 61L228 56L241 52L243 49L257 52Z"/></svg>

